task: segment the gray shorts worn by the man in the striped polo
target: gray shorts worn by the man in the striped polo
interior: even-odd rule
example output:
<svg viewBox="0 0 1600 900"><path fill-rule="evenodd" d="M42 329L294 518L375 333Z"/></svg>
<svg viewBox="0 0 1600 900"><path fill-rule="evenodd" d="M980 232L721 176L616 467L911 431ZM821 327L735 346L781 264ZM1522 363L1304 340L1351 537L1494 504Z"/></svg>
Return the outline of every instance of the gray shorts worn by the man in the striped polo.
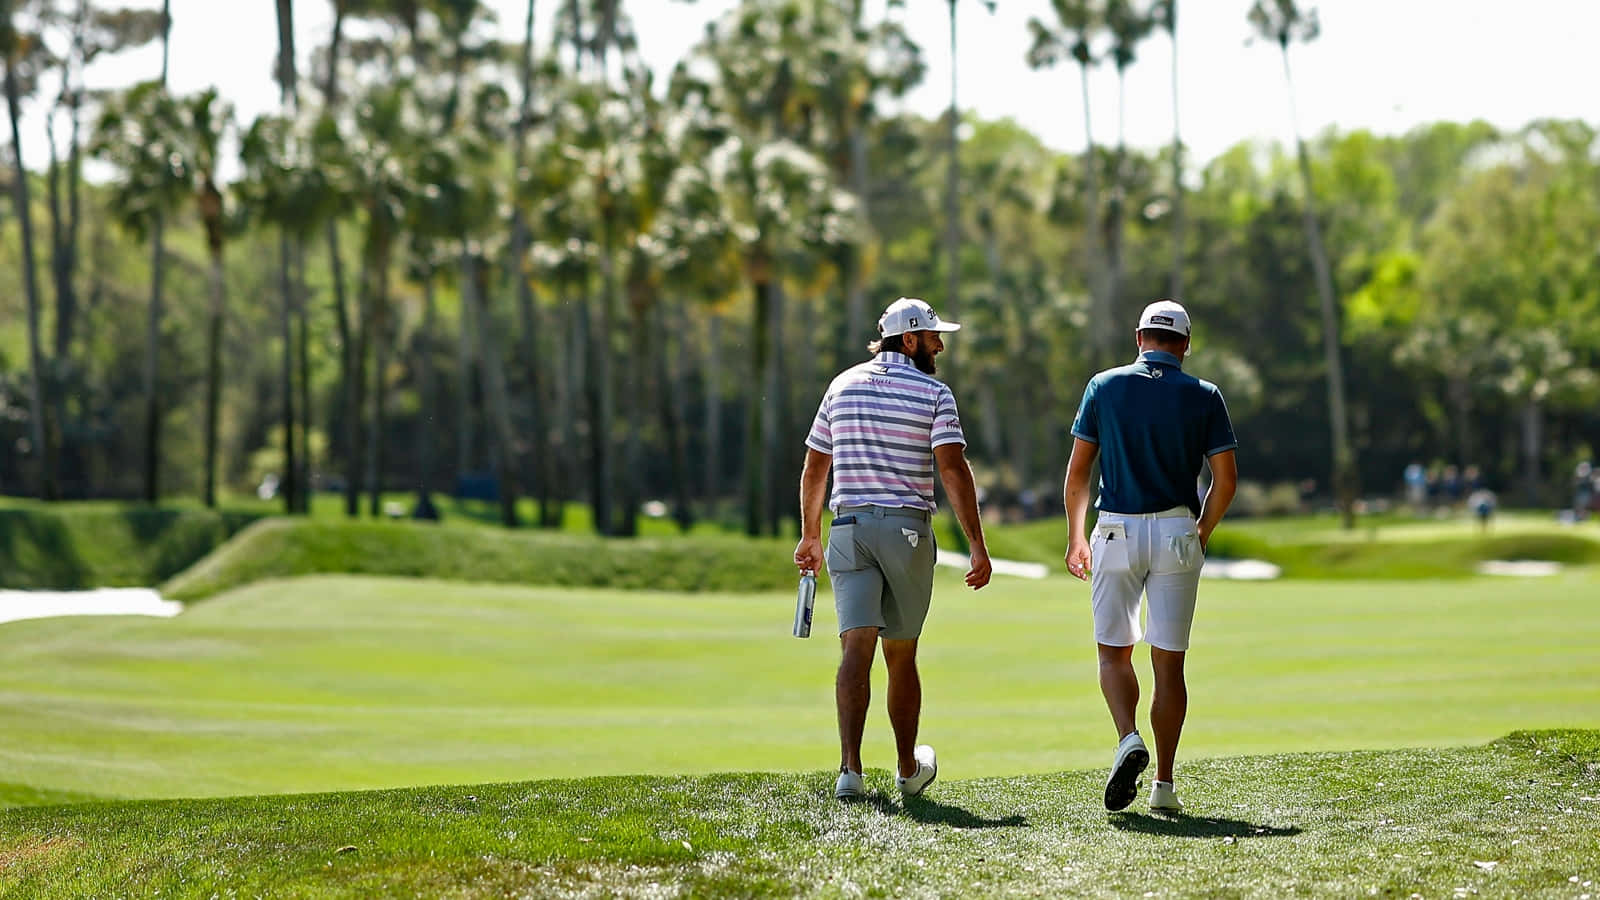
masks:
<svg viewBox="0 0 1600 900"><path fill-rule="evenodd" d="M827 535L838 633L877 628L880 637L922 634L933 599L933 524L922 509L850 506Z"/></svg>

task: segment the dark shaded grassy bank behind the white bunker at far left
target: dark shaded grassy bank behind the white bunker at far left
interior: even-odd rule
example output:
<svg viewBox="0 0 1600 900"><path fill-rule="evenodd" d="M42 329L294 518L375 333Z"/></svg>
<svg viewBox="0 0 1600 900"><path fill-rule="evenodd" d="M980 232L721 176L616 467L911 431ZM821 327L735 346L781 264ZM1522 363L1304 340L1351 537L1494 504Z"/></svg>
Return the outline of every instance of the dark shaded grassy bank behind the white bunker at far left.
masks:
<svg viewBox="0 0 1600 900"><path fill-rule="evenodd" d="M0 506L0 588L157 585L259 517L245 511L6 501Z"/></svg>

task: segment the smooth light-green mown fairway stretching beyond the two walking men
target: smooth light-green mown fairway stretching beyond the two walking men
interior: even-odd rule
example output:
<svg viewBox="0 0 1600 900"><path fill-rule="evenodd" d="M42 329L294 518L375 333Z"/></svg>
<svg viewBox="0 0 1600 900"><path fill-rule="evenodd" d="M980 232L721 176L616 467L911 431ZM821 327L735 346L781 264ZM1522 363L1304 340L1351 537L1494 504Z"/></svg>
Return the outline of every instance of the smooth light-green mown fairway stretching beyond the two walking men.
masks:
<svg viewBox="0 0 1600 900"><path fill-rule="evenodd" d="M1600 727L1600 578L1206 583L1187 759ZM0 626L0 804L595 773L829 769L830 596L261 583L176 620ZM1098 769L1088 589L941 575L923 735L944 780ZM1141 658L1142 663L1142 658ZM867 764L886 765L878 706ZM1179 769L1179 777L1182 777Z"/></svg>

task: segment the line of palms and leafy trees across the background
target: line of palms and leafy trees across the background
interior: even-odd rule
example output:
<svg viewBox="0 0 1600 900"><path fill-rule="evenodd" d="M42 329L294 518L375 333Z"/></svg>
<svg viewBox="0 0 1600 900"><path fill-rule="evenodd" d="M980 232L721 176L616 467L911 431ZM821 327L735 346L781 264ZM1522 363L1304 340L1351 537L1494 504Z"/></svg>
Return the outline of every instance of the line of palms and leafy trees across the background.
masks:
<svg viewBox="0 0 1600 900"><path fill-rule="evenodd" d="M1096 143L1091 80L1149 40L1176 59L1176 0L1061 0L1018 35L1078 88L1075 152L962 115L954 69L941 120L898 112L925 51L858 0L742 0L669 72L621 0L560 0L550 34L530 2L520 42L477 0L331 5L301 53L275 0L280 109L240 122L168 90L166 8L0 3L0 266L22 295L0 490L214 504L270 472L290 512L315 488L350 516L450 492L514 525L530 496L538 525L578 501L626 535L658 500L770 533L827 380L901 295L968 327L942 370L1002 504L1058 493L1082 386L1155 296L1190 307L1187 365L1227 394L1245 476L1309 480L1347 519L1410 461L1541 503L1594 452L1584 122L1328 131L1195 167L1174 67L1173 109L1117 110L1171 117L1168 147ZM1315 11L1258 0L1240 29L1293 96ZM152 42L158 77L85 86Z"/></svg>

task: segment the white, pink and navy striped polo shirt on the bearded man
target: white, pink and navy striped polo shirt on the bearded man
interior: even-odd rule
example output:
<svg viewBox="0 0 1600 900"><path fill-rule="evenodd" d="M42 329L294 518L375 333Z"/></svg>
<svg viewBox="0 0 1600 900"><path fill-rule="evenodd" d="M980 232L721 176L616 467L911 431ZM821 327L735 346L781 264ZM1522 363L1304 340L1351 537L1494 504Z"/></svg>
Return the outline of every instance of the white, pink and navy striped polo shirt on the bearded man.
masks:
<svg viewBox="0 0 1600 900"><path fill-rule="evenodd" d="M806 447L834 456L829 508L934 511L933 448L966 445L955 396L906 354L880 352L834 378Z"/></svg>

